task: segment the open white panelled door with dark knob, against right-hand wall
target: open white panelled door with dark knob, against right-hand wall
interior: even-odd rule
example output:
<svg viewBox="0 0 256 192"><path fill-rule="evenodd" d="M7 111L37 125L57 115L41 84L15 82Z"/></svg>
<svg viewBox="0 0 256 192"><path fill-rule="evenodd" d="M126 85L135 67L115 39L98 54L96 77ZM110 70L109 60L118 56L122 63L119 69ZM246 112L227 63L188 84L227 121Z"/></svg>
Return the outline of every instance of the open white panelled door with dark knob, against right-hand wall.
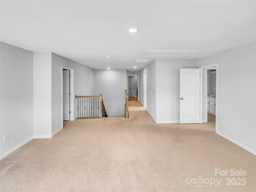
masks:
<svg viewBox="0 0 256 192"><path fill-rule="evenodd" d="M200 123L200 69L180 69L180 124Z"/></svg>

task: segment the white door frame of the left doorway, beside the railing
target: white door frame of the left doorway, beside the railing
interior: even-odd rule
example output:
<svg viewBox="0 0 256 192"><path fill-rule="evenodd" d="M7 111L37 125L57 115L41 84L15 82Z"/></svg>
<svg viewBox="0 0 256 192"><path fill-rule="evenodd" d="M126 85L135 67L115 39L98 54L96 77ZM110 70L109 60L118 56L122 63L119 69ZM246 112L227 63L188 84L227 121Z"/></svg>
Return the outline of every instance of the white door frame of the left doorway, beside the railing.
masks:
<svg viewBox="0 0 256 192"><path fill-rule="evenodd" d="M63 128L63 74L62 71L63 69L69 70L70 71L70 121L74 121L75 118L75 109L74 109L74 69L69 68L66 66L61 66L61 122L62 122L62 128Z"/></svg>

